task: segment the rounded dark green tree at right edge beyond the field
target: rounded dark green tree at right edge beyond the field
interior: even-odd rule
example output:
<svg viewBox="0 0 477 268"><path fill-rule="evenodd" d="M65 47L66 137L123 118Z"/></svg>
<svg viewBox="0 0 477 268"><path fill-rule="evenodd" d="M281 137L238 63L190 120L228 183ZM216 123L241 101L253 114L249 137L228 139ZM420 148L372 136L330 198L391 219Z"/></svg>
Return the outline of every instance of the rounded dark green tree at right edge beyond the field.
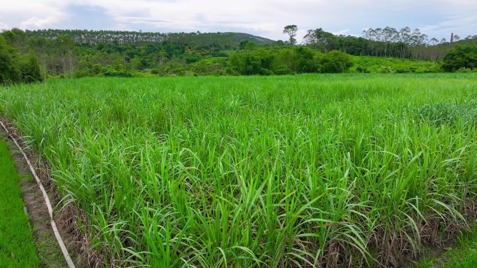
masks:
<svg viewBox="0 0 477 268"><path fill-rule="evenodd" d="M477 68L477 46L457 46L444 56L442 69L446 72Z"/></svg>

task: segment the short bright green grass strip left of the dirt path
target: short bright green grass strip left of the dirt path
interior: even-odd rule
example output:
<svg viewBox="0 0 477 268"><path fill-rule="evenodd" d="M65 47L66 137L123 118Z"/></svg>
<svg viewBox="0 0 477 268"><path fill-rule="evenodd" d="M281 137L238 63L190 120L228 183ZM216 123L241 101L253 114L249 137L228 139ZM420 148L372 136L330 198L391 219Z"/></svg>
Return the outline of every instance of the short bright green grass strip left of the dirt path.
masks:
<svg viewBox="0 0 477 268"><path fill-rule="evenodd" d="M38 267L19 180L7 145L0 138L0 267Z"/></svg>

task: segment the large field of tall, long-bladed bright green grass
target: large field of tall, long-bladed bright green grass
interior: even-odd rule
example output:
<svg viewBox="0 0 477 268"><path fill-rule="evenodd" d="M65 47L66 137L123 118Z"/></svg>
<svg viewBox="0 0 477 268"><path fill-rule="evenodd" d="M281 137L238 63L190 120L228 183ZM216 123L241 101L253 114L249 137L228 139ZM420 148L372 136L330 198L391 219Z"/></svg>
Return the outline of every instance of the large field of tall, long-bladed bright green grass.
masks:
<svg viewBox="0 0 477 268"><path fill-rule="evenodd" d="M135 267L395 265L467 226L476 74L51 80L0 114ZM428 235L432 234L432 235Z"/></svg>

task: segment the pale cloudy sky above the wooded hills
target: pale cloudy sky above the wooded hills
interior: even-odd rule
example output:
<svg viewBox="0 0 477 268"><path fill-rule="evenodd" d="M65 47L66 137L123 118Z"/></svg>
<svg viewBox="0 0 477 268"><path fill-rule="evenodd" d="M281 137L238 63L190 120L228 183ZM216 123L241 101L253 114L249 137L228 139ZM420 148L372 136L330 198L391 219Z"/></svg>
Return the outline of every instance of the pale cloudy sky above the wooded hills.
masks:
<svg viewBox="0 0 477 268"><path fill-rule="evenodd" d="M308 29L361 36L363 29L421 29L430 38L477 34L476 0L0 0L0 29L235 31L286 40Z"/></svg>

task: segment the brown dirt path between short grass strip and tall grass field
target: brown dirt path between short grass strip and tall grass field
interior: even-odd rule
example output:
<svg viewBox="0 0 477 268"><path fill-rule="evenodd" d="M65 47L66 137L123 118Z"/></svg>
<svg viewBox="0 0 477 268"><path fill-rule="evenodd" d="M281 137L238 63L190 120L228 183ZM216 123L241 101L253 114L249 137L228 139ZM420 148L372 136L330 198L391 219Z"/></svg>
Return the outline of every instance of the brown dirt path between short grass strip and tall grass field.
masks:
<svg viewBox="0 0 477 268"><path fill-rule="evenodd" d="M54 236L52 226L50 224L50 215L48 213L47 205L43 199L43 195L38 187L38 184L33 179L33 175L29 169L27 161L25 161L22 152L17 148L15 143L8 137L8 134L0 129L0 139L6 141L8 150L15 161L15 167L20 174L20 185L23 191L23 200L27 212L29 214L29 222L33 230L33 240L36 246L36 253L39 259L39 267L41 268L57 268L68 267L63 253L59 247L58 242ZM48 191L48 189L47 189ZM54 198L51 198L52 193L49 192L50 201L52 206L56 205ZM57 218L57 215L56 217ZM55 219L55 221L57 221ZM79 254L79 245L73 241L73 236L61 228L61 224L58 226L61 233L61 237L66 244L68 252L70 253L73 262L77 267L86 267L81 265L81 256Z"/></svg>

